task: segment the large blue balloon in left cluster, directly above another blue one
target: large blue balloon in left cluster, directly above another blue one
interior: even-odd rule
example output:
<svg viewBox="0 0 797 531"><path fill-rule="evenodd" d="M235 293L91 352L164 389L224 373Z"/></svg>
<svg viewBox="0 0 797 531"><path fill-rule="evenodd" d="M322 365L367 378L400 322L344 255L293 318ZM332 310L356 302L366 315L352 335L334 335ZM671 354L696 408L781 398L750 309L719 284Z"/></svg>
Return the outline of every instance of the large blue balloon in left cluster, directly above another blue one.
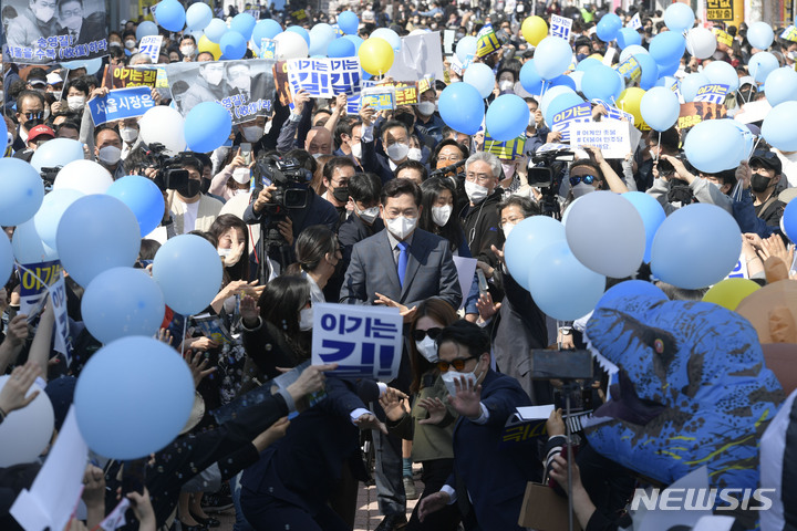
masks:
<svg viewBox="0 0 797 531"><path fill-rule="evenodd" d="M95 194L70 205L61 217L55 241L66 272L86 287L103 271L133 266L141 232L135 215L124 202Z"/></svg>

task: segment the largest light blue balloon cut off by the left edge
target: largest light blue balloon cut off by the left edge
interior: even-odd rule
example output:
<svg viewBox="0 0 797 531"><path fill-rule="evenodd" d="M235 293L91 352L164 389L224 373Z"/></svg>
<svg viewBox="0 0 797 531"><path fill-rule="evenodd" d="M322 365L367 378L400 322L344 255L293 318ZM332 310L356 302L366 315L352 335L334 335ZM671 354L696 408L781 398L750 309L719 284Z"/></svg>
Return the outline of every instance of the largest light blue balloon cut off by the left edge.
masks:
<svg viewBox="0 0 797 531"><path fill-rule="evenodd" d="M24 223L39 210L44 198L44 184L39 173L20 158L6 157L0 158L0 225Z"/></svg>

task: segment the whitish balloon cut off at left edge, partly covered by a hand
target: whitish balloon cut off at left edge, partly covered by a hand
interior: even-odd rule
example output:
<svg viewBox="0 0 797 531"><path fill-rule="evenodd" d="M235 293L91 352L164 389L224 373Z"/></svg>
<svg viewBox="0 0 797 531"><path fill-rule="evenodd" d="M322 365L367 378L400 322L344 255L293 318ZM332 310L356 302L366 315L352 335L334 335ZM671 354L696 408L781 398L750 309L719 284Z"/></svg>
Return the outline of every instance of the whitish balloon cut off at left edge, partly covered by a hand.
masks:
<svg viewBox="0 0 797 531"><path fill-rule="evenodd" d="M0 389L11 376L0 376ZM55 426L55 414L44 389L33 384L28 395L39 396L22 409L11 412L0 424L0 467L35 461L46 448Z"/></svg>

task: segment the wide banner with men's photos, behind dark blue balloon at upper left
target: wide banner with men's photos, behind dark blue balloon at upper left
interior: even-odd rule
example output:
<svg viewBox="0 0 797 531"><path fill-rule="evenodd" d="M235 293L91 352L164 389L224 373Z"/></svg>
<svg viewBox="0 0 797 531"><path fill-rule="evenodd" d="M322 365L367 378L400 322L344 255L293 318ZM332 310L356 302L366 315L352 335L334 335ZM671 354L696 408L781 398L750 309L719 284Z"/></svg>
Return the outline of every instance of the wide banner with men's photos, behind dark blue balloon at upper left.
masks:
<svg viewBox="0 0 797 531"><path fill-rule="evenodd" d="M234 124L268 116L275 98L275 62L268 59L169 63L165 65L172 98L187 116L203 102L217 102Z"/></svg>

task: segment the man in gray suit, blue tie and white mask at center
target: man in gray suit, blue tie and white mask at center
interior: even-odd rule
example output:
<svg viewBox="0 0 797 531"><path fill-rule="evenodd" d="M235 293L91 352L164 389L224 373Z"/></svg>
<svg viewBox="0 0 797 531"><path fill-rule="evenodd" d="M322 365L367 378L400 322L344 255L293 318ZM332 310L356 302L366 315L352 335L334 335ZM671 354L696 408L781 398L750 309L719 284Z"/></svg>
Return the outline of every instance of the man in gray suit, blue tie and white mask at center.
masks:
<svg viewBox="0 0 797 531"><path fill-rule="evenodd" d="M413 319L422 301L433 296L459 308L462 291L448 242L416 228L421 188L408 179L392 179L382 188L381 199L385 229L354 244L341 300L398 308L404 322ZM404 354L398 378L390 385L407 392L408 376ZM380 415L381 409L376 413ZM377 430L373 437L376 499L385 516L376 530L392 531L406 524L401 440Z"/></svg>

